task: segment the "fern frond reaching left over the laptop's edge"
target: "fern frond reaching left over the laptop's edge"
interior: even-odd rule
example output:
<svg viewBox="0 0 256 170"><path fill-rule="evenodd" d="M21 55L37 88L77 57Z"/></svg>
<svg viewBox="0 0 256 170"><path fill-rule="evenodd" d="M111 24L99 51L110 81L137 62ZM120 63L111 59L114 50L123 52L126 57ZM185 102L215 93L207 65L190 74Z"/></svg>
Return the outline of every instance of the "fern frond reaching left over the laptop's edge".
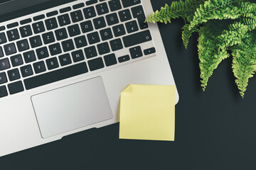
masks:
<svg viewBox="0 0 256 170"><path fill-rule="evenodd" d="M156 10L145 22L150 23L171 23L173 18L183 18L185 21L191 21L193 13L196 11L196 8L200 4L203 4L205 0L185 0L185 1L174 1L171 3L171 6L165 4L164 7L161 7L160 11Z"/></svg>

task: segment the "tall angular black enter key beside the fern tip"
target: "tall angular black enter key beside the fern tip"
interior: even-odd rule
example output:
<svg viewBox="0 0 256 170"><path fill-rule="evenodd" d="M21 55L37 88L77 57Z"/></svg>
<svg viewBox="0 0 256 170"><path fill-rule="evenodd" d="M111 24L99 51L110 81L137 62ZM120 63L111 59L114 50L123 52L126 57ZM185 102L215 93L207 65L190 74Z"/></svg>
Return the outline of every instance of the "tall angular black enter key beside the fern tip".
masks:
<svg viewBox="0 0 256 170"><path fill-rule="evenodd" d="M142 6L136 6L132 8L132 16L134 18L137 18L139 23L139 28L141 28L142 30L149 27L147 23L144 23L146 16Z"/></svg>

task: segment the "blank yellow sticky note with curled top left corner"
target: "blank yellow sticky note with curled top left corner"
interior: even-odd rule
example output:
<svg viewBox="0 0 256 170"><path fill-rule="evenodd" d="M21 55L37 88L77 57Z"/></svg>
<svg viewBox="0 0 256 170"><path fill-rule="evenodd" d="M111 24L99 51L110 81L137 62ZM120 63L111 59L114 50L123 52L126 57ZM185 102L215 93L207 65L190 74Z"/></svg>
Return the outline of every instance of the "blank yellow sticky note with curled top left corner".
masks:
<svg viewBox="0 0 256 170"><path fill-rule="evenodd" d="M129 85L121 93L119 138L174 141L175 86Z"/></svg>

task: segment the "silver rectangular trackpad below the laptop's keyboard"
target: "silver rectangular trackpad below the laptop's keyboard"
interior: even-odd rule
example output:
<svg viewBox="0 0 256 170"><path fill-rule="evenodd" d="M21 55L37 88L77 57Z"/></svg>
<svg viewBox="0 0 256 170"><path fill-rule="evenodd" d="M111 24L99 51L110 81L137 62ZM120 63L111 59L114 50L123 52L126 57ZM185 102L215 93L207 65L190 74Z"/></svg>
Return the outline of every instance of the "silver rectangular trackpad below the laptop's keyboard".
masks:
<svg viewBox="0 0 256 170"><path fill-rule="evenodd" d="M112 118L101 77L31 97L43 138Z"/></svg>

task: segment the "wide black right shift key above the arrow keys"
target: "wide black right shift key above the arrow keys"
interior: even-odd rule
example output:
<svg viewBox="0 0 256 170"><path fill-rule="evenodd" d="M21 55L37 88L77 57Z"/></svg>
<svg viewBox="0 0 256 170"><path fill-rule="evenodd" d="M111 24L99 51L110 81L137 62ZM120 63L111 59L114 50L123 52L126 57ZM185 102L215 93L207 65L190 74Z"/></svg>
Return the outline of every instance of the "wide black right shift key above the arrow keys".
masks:
<svg viewBox="0 0 256 170"><path fill-rule="evenodd" d="M127 35L122 39L124 41L124 47L131 47L133 45L138 45L143 42L152 40L149 30L144 30L140 33L134 33L132 35Z"/></svg>

